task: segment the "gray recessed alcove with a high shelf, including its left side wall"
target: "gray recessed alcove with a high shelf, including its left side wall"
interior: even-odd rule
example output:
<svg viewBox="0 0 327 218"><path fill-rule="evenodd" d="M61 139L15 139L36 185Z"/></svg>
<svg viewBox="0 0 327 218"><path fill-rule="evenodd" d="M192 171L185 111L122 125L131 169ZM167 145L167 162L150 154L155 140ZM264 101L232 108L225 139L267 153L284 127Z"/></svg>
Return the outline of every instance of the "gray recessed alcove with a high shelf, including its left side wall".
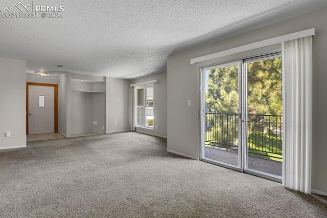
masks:
<svg viewBox="0 0 327 218"><path fill-rule="evenodd" d="M84 82L81 81L84 79ZM66 137L105 133L104 77L65 73L59 78L59 132ZM71 91L73 90L73 91ZM93 124L97 121L98 124ZM102 128L103 127L103 128Z"/></svg>

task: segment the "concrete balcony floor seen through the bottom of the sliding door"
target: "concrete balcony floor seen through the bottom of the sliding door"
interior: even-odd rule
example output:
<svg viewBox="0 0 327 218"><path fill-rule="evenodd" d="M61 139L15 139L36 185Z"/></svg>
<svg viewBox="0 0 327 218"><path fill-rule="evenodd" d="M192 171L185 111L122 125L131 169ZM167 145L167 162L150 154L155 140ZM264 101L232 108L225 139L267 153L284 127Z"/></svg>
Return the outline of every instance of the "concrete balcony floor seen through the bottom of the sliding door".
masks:
<svg viewBox="0 0 327 218"><path fill-rule="evenodd" d="M233 166L238 166L238 154L215 147L205 147L205 157ZM263 158L248 157L248 169L282 176L282 162Z"/></svg>

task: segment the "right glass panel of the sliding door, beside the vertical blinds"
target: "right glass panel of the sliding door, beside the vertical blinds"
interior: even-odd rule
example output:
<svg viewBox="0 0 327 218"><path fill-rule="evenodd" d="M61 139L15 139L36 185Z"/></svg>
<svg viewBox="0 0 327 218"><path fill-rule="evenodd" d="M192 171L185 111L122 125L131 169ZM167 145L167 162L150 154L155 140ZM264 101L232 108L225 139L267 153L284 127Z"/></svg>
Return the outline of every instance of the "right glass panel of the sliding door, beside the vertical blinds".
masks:
<svg viewBox="0 0 327 218"><path fill-rule="evenodd" d="M246 71L246 140L244 169L282 177L282 66L281 57L244 64Z"/></svg>

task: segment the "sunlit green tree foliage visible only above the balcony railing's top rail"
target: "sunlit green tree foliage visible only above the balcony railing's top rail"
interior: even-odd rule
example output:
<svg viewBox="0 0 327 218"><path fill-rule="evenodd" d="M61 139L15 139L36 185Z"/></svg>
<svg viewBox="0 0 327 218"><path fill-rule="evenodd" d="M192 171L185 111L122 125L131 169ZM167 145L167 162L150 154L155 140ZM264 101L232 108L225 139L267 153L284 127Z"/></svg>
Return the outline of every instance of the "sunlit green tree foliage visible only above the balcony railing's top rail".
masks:
<svg viewBox="0 0 327 218"><path fill-rule="evenodd" d="M239 66L208 71L205 102L216 113L238 113ZM281 58L247 64L248 114L282 115Z"/></svg>

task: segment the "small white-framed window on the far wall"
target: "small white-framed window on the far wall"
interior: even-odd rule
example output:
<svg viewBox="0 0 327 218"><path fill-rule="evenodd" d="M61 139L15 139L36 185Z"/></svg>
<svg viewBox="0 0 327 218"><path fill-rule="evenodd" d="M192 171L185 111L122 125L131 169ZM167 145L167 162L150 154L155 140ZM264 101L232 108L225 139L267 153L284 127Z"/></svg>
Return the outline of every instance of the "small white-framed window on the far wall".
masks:
<svg viewBox="0 0 327 218"><path fill-rule="evenodd" d="M135 87L135 126L153 129L153 85Z"/></svg>

